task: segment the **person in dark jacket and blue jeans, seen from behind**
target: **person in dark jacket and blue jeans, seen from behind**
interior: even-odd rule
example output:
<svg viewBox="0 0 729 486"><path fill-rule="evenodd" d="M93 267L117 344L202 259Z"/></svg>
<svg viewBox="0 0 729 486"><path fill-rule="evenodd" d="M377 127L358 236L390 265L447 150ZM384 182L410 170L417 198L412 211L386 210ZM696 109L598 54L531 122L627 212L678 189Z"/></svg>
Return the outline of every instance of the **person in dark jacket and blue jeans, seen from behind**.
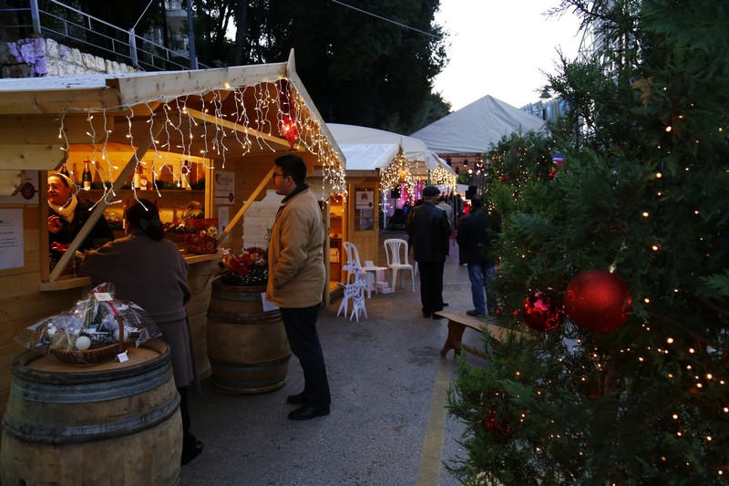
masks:
<svg viewBox="0 0 729 486"><path fill-rule="evenodd" d="M463 260L468 265L468 278L471 281L471 296L474 308L467 315L484 316L496 312L496 294L493 279L496 274L496 261L491 257L493 234L498 231L488 218L484 200L481 196L471 198L471 211L458 223L456 241L463 251ZM484 302L486 287L486 302Z"/></svg>

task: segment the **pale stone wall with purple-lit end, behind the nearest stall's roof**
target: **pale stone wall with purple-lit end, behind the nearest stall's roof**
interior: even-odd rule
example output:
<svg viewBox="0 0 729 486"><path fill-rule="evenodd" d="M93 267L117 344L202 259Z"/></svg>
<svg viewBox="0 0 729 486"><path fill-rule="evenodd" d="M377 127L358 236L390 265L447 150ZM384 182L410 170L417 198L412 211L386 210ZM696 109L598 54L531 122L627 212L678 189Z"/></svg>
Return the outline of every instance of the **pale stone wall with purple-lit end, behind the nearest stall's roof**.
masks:
<svg viewBox="0 0 729 486"><path fill-rule="evenodd" d="M123 74L137 69L85 54L53 39L25 38L0 42L0 78L44 78L87 74Z"/></svg>

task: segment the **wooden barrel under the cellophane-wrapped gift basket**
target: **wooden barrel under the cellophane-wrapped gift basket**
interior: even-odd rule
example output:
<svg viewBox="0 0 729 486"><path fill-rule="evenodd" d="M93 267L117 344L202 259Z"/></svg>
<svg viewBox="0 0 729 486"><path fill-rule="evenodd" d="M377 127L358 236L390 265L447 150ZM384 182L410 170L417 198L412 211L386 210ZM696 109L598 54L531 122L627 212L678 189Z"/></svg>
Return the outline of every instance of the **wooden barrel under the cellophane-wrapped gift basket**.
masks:
<svg viewBox="0 0 729 486"><path fill-rule="evenodd" d="M182 420L169 346L151 339L125 363L15 357L3 418L2 484L176 484Z"/></svg>

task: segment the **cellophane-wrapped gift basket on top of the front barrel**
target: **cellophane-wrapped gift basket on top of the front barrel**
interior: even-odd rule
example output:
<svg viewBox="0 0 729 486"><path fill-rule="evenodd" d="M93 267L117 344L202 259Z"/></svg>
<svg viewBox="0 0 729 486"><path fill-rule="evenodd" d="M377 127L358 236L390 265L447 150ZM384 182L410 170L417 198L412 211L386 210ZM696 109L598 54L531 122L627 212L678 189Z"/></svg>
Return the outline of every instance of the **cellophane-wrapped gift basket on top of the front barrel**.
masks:
<svg viewBox="0 0 729 486"><path fill-rule="evenodd" d="M15 335L28 349L50 353L73 366L91 366L159 336L139 305L114 297L113 284L100 284L66 312L46 317Z"/></svg>

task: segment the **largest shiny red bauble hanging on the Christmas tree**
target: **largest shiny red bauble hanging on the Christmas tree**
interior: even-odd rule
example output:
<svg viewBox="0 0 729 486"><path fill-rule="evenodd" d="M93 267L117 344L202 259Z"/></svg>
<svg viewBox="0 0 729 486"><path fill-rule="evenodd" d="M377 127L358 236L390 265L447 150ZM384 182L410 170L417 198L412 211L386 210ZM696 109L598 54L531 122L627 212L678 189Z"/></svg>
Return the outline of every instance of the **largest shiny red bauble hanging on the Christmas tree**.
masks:
<svg viewBox="0 0 729 486"><path fill-rule="evenodd" d="M616 274L589 270L567 285L564 309L576 326L607 333L625 324L632 309L631 289Z"/></svg>

